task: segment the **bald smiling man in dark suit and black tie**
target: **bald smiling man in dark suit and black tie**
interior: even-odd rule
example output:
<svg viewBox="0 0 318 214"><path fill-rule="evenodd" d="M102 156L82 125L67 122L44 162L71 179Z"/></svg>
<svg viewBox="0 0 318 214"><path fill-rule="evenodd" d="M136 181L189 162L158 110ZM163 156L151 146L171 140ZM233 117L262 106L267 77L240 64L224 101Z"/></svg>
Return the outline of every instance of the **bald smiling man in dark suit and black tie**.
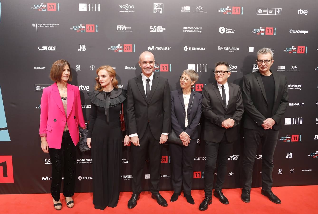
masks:
<svg viewBox="0 0 318 214"><path fill-rule="evenodd" d="M167 201L159 194L161 150L171 126L170 88L166 78L153 72L155 57L142 52L138 61L142 73L128 80L127 121L133 156L133 194L128 208L134 208L141 193L142 172L149 152L151 197L162 206Z"/></svg>

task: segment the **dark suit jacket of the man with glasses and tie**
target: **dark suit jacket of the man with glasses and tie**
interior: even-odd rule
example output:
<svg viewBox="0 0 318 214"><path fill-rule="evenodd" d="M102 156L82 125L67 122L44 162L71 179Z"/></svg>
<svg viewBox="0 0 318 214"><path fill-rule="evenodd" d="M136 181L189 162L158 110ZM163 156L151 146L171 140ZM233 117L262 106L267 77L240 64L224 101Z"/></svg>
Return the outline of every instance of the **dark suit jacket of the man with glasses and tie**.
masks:
<svg viewBox="0 0 318 214"><path fill-rule="evenodd" d="M207 120L204 125L204 140L220 142L226 134L228 142L233 142L239 135L239 121L244 113L241 88L229 83L229 102L225 109L217 82L206 85L202 89L202 109ZM234 126L223 128L222 121L232 118Z"/></svg>

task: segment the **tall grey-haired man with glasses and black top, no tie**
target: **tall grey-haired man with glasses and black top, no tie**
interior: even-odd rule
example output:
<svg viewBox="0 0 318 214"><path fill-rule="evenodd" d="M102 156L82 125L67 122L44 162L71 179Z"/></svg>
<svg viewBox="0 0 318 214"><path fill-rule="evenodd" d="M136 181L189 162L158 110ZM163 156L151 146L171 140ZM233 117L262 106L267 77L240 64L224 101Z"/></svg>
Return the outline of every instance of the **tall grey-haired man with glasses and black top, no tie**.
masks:
<svg viewBox="0 0 318 214"><path fill-rule="evenodd" d="M281 118L288 106L287 80L285 75L270 70L273 52L262 48L257 52L259 70L243 77L244 158L243 189L241 199L250 202L252 172L259 143L262 143L262 194L272 202L280 199L272 192L273 156L281 129Z"/></svg>

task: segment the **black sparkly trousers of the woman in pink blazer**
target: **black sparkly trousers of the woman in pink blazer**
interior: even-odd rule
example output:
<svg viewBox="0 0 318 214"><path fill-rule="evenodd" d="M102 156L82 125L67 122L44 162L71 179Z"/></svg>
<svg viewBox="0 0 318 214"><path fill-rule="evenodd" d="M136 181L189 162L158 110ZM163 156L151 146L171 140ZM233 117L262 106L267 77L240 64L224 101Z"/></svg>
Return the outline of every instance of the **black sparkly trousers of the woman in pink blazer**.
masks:
<svg viewBox="0 0 318 214"><path fill-rule="evenodd" d="M75 188L76 147L68 131L63 132L61 148L49 148L49 154L52 164L52 197L59 201L63 174L63 195L72 197Z"/></svg>

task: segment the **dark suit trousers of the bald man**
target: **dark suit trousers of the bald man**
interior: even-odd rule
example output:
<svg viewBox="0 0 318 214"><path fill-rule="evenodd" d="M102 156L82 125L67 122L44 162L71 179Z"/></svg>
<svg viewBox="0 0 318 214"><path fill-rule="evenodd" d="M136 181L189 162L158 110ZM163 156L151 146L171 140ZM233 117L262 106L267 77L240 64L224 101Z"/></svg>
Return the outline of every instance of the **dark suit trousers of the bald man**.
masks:
<svg viewBox="0 0 318 214"><path fill-rule="evenodd" d="M140 137L140 136L139 136ZM139 139L140 146L131 145L131 152L133 156L133 182L132 189L134 194L140 194L141 179L145 176L143 168L145 166L146 153L149 152L150 163L150 192L159 192L160 180L160 164L161 164L161 150L163 144L160 144L151 133L149 124L147 125L145 134Z"/></svg>

